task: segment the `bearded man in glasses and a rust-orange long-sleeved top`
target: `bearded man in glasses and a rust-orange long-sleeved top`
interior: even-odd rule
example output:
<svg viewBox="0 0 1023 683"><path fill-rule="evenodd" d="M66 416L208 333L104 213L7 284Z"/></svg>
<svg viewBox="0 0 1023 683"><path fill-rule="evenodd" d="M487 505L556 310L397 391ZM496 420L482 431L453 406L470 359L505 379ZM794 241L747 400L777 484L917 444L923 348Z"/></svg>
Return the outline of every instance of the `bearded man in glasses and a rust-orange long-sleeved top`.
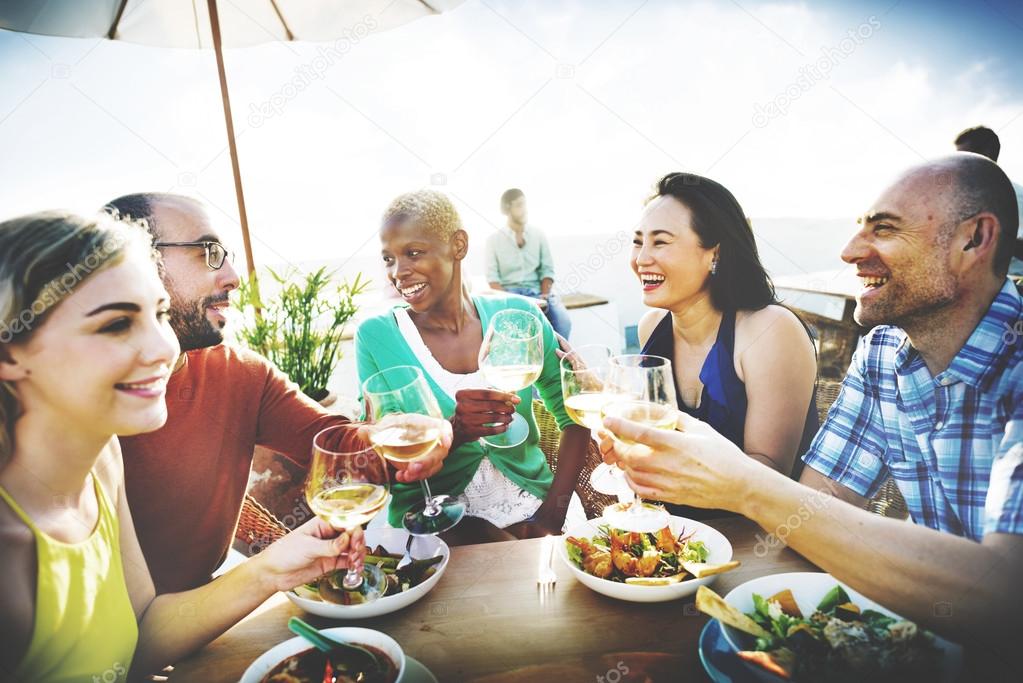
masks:
<svg viewBox="0 0 1023 683"><path fill-rule="evenodd" d="M125 437L121 447L157 592L187 590L209 582L231 547L256 445L308 467L313 437L349 419L328 413L259 354L224 343L238 274L202 202L136 193L105 209L143 221L163 257L170 324L182 352L167 385L167 423ZM438 447L398 480L440 469L445 453Z"/></svg>

